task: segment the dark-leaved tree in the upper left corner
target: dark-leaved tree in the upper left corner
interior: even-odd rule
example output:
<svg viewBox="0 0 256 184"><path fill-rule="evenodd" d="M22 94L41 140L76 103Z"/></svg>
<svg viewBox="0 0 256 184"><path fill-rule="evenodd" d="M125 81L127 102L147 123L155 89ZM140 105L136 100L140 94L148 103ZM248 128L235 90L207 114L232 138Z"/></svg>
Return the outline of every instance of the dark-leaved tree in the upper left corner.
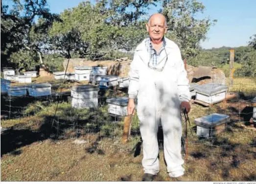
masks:
<svg viewBox="0 0 256 184"><path fill-rule="evenodd" d="M47 29L58 16L49 13L47 0L12 0L12 3L9 7L1 1L1 67L19 68L23 67L24 58L19 65L11 57L37 53L40 58L48 43ZM35 18L39 18L37 24Z"/></svg>

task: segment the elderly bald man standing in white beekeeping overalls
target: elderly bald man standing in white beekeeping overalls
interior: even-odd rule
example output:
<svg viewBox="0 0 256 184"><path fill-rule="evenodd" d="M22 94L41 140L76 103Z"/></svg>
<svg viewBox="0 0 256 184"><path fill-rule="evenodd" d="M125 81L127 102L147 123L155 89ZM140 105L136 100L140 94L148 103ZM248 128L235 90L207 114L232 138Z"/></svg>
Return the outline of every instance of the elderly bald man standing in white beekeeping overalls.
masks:
<svg viewBox="0 0 256 184"><path fill-rule="evenodd" d="M158 126L163 127L164 159L170 177L184 175L181 155L182 119L181 108L190 111L190 92L187 73L179 47L164 38L166 19L154 14L146 24L149 38L137 46L129 71L128 114L135 109L134 98L138 98L137 114L143 145L142 181L152 181L160 171Z"/></svg>

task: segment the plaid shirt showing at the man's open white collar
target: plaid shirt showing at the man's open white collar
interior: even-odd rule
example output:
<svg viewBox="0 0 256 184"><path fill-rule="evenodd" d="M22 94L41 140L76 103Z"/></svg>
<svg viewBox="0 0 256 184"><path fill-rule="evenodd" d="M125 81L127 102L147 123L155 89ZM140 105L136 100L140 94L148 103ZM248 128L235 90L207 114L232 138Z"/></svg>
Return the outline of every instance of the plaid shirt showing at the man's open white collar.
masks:
<svg viewBox="0 0 256 184"><path fill-rule="evenodd" d="M147 52L150 55L150 61L149 62L152 62L153 66L156 66L158 64L158 58L161 55L165 45L166 45L166 42L163 38L163 45L161 46L159 52L157 53L157 51L153 48L152 43L150 42L150 38L148 38L146 40L145 46L147 48Z"/></svg>

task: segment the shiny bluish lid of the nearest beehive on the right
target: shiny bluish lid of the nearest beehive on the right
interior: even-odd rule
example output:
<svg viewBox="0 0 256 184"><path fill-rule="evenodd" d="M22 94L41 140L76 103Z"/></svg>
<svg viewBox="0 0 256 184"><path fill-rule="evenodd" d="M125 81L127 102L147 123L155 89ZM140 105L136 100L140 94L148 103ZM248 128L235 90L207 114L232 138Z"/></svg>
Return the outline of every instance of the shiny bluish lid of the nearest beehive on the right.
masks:
<svg viewBox="0 0 256 184"><path fill-rule="evenodd" d="M229 120L230 120L229 115L214 113L211 115L199 117L199 118L195 119L194 121L195 121L195 124L198 126L210 128L210 127L214 127L214 126L220 125L222 123L228 122Z"/></svg>

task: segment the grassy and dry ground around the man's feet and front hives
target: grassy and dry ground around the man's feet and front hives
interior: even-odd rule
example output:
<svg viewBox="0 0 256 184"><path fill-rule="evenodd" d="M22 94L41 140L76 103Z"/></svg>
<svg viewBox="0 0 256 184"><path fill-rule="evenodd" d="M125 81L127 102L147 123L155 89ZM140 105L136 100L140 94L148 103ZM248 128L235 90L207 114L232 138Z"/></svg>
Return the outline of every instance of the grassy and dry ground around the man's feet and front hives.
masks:
<svg viewBox="0 0 256 184"><path fill-rule="evenodd" d="M233 87L234 91L245 94L256 89L256 83L249 78L236 78L234 84L242 85ZM115 95L108 91L105 97ZM1 157L1 181L141 180L142 147L137 157L132 151L140 139L136 114L132 119L133 134L128 144L122 145L123 120L113 123L106 105L74 109L70 102L60 102L54 117L56 106L57 102L52 101L33 102L25 107L23 118L1 121L3 128L11 128L9 134L1 135L1 149L6 144L15 145L13 151ZM222 102L209 108L191 104L189 118L192 127L195 118L211 113L239 119L236 112L247 106L251 106L249 101ZM256 132L244 129L242 124L242 119L230 122L225 133L211 139L197 138L188 126L188 160L184 167L190 181L256 180ZM86 143L73 144L75 138ZM155 181L176 181L166 173L162 149L160 169Z"/></svg>

